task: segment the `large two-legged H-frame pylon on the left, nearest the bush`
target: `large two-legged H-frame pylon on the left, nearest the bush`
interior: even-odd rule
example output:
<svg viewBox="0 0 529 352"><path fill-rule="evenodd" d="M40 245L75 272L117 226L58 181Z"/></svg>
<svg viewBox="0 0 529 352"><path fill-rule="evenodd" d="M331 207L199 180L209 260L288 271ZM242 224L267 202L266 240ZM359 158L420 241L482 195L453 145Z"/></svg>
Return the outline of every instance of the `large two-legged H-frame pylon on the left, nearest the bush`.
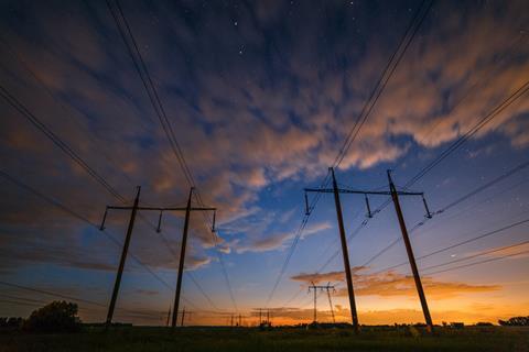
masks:
<svg viewBox="0 0 529 352"><path fill-rule="evenodd" d="M182 249L181 249L181 254L180 254L180 265L179 265L179 273L177 273L177 279L176 279L176 292L175 292L175 299L174 299L174 305L173 305L173 317L172 317L172 327L176 328L176 318L177 318L177 312L179 312L179 302L180 302L180 293L182 289L182 274L184 270L184 261L185 261L185 245L187 241L187 230L190 227L190 213L192 211L214 211L214 217L213 217L213 226L212 226L212 231L215 232L215 212L216 208L212 207L192 207L191 205L191 197L193 195L193 187L191 187L190 190L190 197L187 199L187 206L184 207L140 207L139 201L140 201L140 187L138 187L138 193L134 199L133 206L107 206L105 210L105 215L102 216L102 221L99 230L105 230L105 222L107 220L107 213L108 210L115 209L115 210L131 210L130 215L130 220L129 220L129 227L127 229L127 237L125 240L123 244L123 252L121 253L121 260L119 263L119 268L118 268L118 275L116 276L116 284L114 286L114 292L112 292L112 298L110 300L110 305L108 308L108 315L107 315L107 327L111 324L112 321L112 316L114 316L114 310L116 307L116 300L118 297L118 292L119 292L119 285L121 284L121 276L123 273L123 267L125 267L125 261L127 258L127 252L129 249L129 243L130 243L130 237L132 234L132 229L134 227L134 219L138 210L143 210L143 211L159 211L160 216L158 219L158 228L156 232L161 231L161 223L162 223L162 213L164 211L185 211L185 222L184 222L184 233L182 237Z"/></svg>

